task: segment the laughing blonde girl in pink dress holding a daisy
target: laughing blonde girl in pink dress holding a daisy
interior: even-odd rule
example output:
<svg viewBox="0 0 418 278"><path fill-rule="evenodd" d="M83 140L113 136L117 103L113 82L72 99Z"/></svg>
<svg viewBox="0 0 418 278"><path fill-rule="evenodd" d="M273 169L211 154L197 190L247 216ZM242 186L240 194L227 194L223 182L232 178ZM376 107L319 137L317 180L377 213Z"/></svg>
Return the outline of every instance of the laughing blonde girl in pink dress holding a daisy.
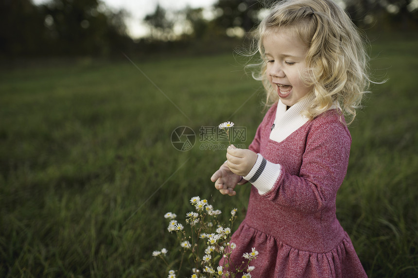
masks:
<svg viewBox="0 0 418 278"><path fill-rule="evenodd" d="M211 177L230 196L252 184L230 262L255 247L253 277L366 277L335 216L351 144L343 115L354 118L369 83L360 35L331 0L280 1L258 35L259 79L274 104L248 150L230 146Z"/></svg>

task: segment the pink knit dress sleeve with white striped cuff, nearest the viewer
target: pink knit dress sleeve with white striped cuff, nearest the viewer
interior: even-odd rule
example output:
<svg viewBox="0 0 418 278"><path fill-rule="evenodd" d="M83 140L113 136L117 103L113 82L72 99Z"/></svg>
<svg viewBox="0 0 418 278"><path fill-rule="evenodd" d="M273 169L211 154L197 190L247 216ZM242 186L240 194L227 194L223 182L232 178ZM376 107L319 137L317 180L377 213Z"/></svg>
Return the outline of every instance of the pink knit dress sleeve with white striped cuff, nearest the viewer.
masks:
<svg viewBox="0 0 418 278"><path fill-rule="evenodd" d="M308 135L299 175L286 173L279 164L263 163L265 159L259 154L259 163L254 166L258 168L250 171L253 176L244 178L262 196L280 206L315 212L326 206L341 186L347 173L350 144L348 130L342 123L324 123ZM255 173L258 177L254 180Z"/></svg>

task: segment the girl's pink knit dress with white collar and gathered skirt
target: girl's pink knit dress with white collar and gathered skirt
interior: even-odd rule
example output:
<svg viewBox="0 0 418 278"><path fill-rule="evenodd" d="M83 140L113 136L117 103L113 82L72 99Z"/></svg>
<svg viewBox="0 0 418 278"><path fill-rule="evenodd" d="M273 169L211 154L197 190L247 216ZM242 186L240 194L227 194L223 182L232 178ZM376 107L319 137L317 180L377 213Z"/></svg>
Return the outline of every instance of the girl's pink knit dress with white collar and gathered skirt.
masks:
<svg viewBox="0 0 418 278"><path fill-rule="evenodd" d="M249 146L258 159L244 177L251 194L246 217L232 235L237 247L231 261L241 265L243 253L255 247L255 278L367 277L335 215L351 137L337 109L313 121L301 116L310 101L287 111L280 101L273 105Z"/></svg>

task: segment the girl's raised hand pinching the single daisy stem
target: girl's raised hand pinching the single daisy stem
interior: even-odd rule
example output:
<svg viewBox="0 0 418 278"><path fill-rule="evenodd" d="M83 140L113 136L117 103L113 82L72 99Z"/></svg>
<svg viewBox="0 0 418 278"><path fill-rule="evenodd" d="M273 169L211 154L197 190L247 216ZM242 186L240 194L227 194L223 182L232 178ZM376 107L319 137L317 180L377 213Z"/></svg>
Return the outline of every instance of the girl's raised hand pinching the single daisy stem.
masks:
<svg viewBox="0 0 418 278"><path fill-rule="evenodd" d="M237 175L246 176L257 161L257 154L248 149L237 149L230 145L226 150L227 165L229 170Z"/></svg>

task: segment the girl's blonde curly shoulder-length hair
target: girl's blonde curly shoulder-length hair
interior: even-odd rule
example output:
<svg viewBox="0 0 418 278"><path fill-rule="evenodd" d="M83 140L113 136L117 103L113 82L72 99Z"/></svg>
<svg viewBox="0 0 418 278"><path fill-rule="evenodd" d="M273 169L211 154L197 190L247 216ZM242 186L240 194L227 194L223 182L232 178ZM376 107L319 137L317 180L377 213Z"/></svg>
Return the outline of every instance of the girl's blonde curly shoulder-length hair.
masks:
<svg viewBox="0 0 418 278"><path fill-rule="evenodd" d="M267 106L277 102L279 96L267 79L262 41L282 27L308 46L307 70L301 74L306 85L313 87L315 98L304 115L312 120L337 104L351 123L370 84L369 57L357 27L332 0L282 0L275 4L261 21L255 37L263 61L257 64L260 71L253 77L262 81Z"/></svg>

